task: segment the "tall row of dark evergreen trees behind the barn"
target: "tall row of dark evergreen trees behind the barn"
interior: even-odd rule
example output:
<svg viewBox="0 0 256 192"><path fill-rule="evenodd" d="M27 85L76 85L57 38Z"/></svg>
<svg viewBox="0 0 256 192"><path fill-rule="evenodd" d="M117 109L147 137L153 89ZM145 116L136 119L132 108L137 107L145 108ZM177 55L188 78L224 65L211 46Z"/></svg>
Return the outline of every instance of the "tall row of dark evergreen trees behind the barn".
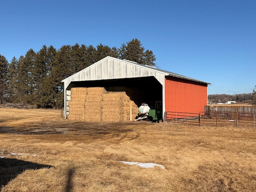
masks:
<svg viewBox="0 0 256 192"><path fill-rule="evenodd" d="M156 57L145 50L138 39L123 43L120 48L99 44L53 46L10 62L0 54L0 104L3 102L37 105L38 108L62 108L64 88L61 80L98 62L106 56L127 59L138 64L155 66Z"/></svg>

